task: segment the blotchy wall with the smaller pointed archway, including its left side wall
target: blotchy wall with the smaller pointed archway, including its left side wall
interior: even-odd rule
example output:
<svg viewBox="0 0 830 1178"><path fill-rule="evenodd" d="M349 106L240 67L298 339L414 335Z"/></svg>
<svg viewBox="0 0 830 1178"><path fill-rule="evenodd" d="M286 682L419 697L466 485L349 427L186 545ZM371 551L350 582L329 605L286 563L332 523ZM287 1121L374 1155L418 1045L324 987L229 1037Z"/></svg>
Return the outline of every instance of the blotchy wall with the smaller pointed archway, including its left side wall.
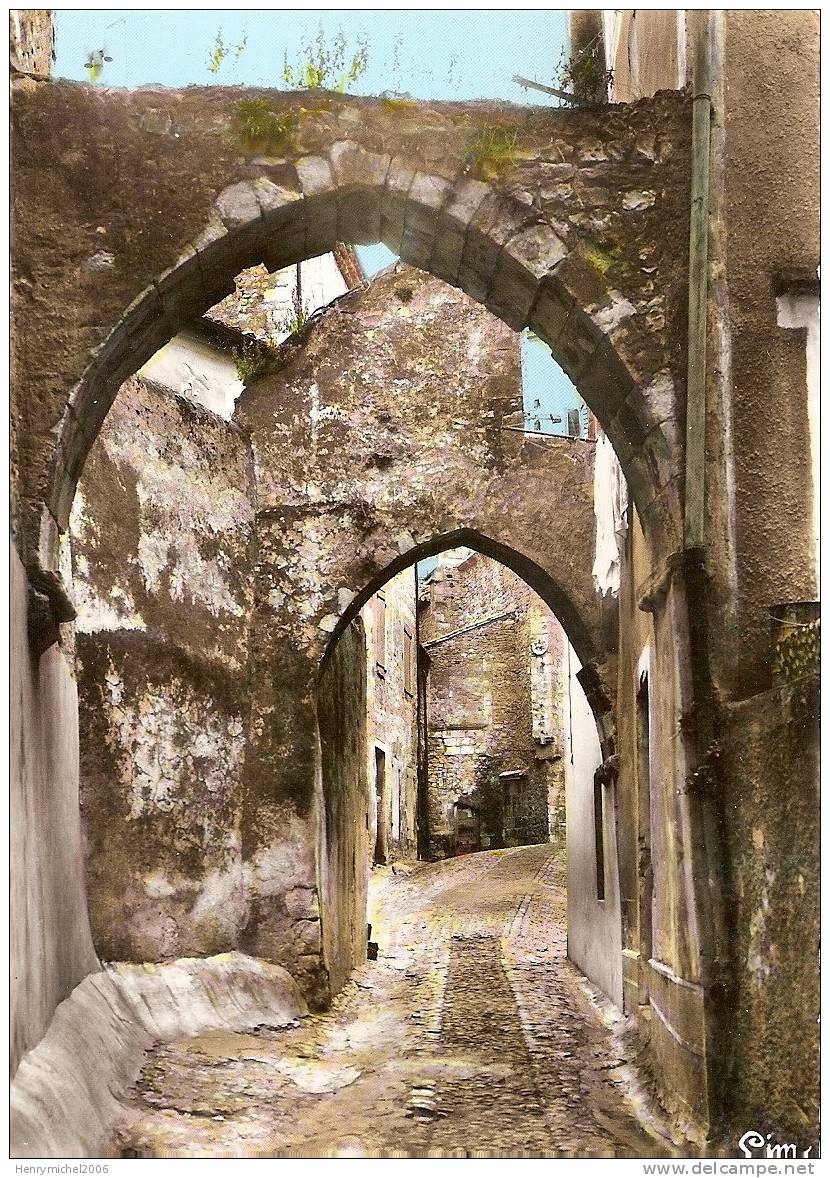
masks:
<svg viewBox="0 0 830 1178"><path fill-rule="evenodd" d="M613 605L591 573L595 448L525 437L505 424L522 404L516 335L403 265L285 345L234 423L127 383L73 524L89 901L104 955L241 940L310 991L325 987L306 913L325 802L320 664L374 589L430 552L469 545L539 593L571 637L611 750ZM159 776L161 754L170 774Z"/></svg>

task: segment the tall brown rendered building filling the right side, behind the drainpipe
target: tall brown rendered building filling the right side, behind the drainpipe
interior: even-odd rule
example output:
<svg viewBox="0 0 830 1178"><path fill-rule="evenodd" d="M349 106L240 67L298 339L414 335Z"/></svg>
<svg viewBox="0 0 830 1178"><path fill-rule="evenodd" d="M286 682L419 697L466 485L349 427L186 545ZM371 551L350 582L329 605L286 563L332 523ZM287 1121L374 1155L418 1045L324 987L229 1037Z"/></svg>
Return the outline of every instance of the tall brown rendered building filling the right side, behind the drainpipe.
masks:
<svg viewBox="0 0 830 1178"><path fill-rule="evenodd" d="M600 38L612 101L669 88L711 99L698 364L705 514L691 590L695 642L706 650L696 671L696 690L709 684L698 714L708 717L706 756L692 783L673 788L715 803L706 841L722 899L709 915L702 909L712 944L690 972L669 932L686 919L668 871L678 812L659 750L670 671L648 613L651 562L632 504L622 544L618 773L605 787L630 832L619 854L624 1008L682 1118L706 1121L708 1087L719 1120L709 1132L736 1140L758 1125L809 1147L818 1119L817 713L794 704L777 675L776 620L792 608L809 622L819 608L817 16L637 9L575 12L571 21L575 45ZM695 992L678 978L699 987L704 1018L690 1017ZM678 1052L680 1019L688 1046Z"/></svg>

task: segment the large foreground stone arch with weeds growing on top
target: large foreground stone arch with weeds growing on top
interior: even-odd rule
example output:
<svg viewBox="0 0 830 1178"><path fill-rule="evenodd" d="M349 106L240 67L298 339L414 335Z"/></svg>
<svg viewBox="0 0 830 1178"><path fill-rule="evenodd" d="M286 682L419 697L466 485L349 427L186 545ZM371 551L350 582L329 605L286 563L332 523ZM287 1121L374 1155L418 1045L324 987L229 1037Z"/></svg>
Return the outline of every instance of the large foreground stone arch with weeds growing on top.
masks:
<svg viewBox="0 0 830 1178"><path fill-rule="evenodd" d="M243 98L69 84L18 94L27 166L15 263L20 305L44 332L36 358L18 355L18 396L34 382L41 409L20 424L16 490L32 578L58 617L68 610L58 535L122 380L245 265L287 265L338 239L384 240L512 327L532 327L611 438L655 552L676 550L685 259L684 233L670 226L688 214L684 99L519 115L330 97L314 106L266 92L258 98L296 127L277 157L240 144ZM493 127L516 132L496 176ZM81 176L93 155L107 164ZM100 236L89 237L89 218ZM38 232L26 246L29 220ZM55 264L45 294L38 277ZM55 298L61 322L47 305Z"/></svg>

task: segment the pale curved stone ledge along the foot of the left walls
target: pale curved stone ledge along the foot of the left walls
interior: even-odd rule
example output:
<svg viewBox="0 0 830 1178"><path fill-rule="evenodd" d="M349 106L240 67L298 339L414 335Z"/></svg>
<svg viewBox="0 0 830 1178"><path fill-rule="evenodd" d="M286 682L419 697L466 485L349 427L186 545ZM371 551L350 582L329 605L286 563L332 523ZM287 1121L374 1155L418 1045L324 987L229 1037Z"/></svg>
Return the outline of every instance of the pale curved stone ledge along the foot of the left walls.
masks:
<svg viewBox="0 0 830 1178"><path fill-rule="evenodd" d="M105 1157L150 1047L307 1013L280 966L244 953L107 965L75 986L11 1085L11 1157Z"/></svg>

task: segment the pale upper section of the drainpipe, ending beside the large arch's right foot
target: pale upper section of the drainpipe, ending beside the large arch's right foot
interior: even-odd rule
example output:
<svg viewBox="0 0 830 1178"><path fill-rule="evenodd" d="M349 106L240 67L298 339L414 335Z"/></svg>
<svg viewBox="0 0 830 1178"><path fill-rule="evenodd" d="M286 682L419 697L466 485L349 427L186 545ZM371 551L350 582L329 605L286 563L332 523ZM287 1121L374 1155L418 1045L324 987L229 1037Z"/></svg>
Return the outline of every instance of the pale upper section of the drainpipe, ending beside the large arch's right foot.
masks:
<svg viewBox="0 0 830 1178"><path fill-rule="evenodd" d="M709 276L709 158L711 72L709 13L699 12L692 94L691 216L689 220L689 365L686 373L686 494L683 543L704 547L706 464L706 304Z"/></svg>

